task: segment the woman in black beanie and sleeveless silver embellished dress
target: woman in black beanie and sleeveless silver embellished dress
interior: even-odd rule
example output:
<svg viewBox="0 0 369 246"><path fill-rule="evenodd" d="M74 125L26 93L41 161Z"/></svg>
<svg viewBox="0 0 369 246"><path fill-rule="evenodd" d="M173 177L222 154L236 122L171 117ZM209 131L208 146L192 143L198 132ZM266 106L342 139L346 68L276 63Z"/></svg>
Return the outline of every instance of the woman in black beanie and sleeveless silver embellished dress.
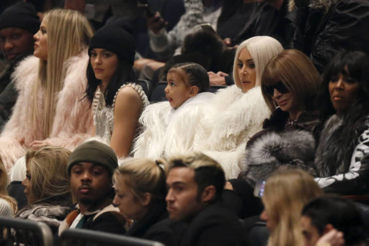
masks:
<svg viewBox="0 0 369 246"><path fill-rule="evenodd" d="M130 154L138 119L149 104L132 69L134 44L132 35L110 22L91 38L88 48L85 97L93 105L96 135L110 144L118 158Z"/></svg>

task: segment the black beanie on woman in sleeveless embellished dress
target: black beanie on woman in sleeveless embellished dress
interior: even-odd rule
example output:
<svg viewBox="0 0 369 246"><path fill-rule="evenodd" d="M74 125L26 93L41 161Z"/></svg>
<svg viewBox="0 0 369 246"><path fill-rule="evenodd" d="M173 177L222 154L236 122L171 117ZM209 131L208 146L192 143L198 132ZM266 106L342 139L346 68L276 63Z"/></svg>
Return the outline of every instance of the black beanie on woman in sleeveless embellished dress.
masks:
<svg viewBox="0 0 369 246"><path fill-rule="evenodd" d="M88 54L95 48L105 49L117 54L130 66L134 64L135 44L133 36L115 24L107 24L90 39Z"/></svg>

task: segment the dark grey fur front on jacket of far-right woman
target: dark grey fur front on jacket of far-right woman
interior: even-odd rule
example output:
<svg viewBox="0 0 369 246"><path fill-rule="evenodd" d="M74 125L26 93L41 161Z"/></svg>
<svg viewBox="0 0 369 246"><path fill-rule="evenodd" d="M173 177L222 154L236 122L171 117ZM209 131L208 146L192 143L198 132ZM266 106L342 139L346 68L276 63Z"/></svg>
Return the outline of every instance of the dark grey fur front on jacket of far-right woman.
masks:
<svg viewBox="0 0 369 246"><path fill-rule="evenodd" d="M369 116L364 115L353 124L348 122L347 118L335 114L325 123L315 156L315 169L319 177L349 171L358 139L368 129Z"/></svg>

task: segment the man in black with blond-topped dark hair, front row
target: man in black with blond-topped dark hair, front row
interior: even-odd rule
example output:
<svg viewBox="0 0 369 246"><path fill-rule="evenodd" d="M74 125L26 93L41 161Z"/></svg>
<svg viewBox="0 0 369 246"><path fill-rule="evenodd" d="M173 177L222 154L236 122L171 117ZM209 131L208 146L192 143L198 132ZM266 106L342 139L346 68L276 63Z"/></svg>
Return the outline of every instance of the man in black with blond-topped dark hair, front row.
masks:
<svg viewBox="0 0 369 246"><path fill-rule="evenodd" d="M224 171L203 154L169 160L166 197L169 218L188 223L181 246L242 246L244 229L238 218L221 204Z"/></svg>

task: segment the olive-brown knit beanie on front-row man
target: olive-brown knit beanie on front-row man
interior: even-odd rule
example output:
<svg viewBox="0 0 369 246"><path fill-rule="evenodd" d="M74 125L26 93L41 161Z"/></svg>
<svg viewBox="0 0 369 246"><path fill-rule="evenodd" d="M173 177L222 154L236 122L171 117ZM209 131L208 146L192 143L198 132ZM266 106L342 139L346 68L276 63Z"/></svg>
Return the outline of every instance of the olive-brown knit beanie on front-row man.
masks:
<svg viewBox="0 0 369 246"><path fill-rule="evenodd" d="M81 162L101 165L109 171L110 175L113 175L114 169L118 167L118 159L114 150L108 145L95 140L81 144L70 154L67 165L69 176L72 166Z"/></svg>

